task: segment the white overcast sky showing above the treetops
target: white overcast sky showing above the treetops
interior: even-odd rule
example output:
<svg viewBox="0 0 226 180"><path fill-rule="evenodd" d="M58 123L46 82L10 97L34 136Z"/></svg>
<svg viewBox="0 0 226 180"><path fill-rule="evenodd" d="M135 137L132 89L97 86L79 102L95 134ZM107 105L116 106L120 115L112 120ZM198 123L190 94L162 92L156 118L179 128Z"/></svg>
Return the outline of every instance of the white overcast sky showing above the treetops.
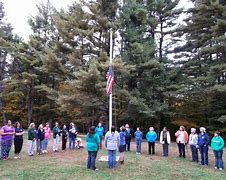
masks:
<svg viewBox="0 0 226 180"><path fill-rule="evenodd" d="M14 33L28 40L31 29L27 23L28 18L37 13L36 5L47 0L0 0L4 3L7 22L11 23ZM56 9L67 8L75 0L50 0ZM181 0L181 7L189 7L189 0Z"/></svg>

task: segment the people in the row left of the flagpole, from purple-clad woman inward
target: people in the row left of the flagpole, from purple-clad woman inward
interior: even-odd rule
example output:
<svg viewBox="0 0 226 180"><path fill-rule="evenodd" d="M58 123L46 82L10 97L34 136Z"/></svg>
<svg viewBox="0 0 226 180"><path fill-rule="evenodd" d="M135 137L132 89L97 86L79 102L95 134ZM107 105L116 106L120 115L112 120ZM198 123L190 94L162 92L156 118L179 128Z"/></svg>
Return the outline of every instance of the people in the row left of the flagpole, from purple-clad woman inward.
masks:
<svg viewBox="0 0 226 180"><path fill-rule="evenodd" d="M7 160L12 144L14 143L15 156L14 159L20 159L20 152L23 146L24 130L19 122L15 123L15 127L10 120L0 130L1 136L1 159ZM53 134L53 152L59 151L60 137L62 138L62 151L66 150L67 139L69 139L69 149L83 147L81 139L77 138L78 130L74 123L70 123L69 128L59 123L55 123L51 131L49 123L45 126L40 124L36 129L35 123L31 123L28 127L28 155L48 153L48 143Z"/></svg>

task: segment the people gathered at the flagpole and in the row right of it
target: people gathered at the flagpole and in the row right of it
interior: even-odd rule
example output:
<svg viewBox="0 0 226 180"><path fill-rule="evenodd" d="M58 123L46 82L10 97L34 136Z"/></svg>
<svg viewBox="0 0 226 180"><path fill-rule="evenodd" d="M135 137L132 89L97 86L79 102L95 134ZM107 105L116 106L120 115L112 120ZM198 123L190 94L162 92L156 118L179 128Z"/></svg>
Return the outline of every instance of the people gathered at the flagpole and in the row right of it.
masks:
<svg viewBox="0 0 226 180"><path fill-rule="evenodd" d="M99 127L97 127L99 128ZM96 131L94 126L90 128L87 136L87 151L88 151L88 161L87 168L96 170L95 161L97 157L97 152L99 147L101 147L101 140L103 138L104 130L102 129L101 133ZM190 145L192 153L192 161L199 162L198 151L201 155L201 165L208 166L208 148L211 146L214 157L215 157L215 169L223 170L223 149L224 149L224 140L220 136L219 131L214 133L214 137L209 140L209 136L204 127L199 128L200 133L196 133L195 128L191 128L191 133L188 135L184 126L180 126L179 130L175 133L176 142L178 145L179 157L186 158L185 146ZM120 132L116 131L114 126L111 127L104 137L104 143L108 151L108 167L114 168L116 166L116 152L119 151L119 162L124 164L125 151L130 151L130 141L132 130L129 128L129 125L122 126ZM101 135L100 135L101 134ZM140 128L137 128L134 133L136 141L136 154L141 154L141 144L143 139L143 132L140 131ZM149 128L149 131L146 134L146 139L148 142L148 154L155 154L155 143L158 139L158 135L155 132L153 127ZM169 155L169 145L171 142L170 132L166 127L160 132L160 143L162 144L164 157Z"/></svg>

